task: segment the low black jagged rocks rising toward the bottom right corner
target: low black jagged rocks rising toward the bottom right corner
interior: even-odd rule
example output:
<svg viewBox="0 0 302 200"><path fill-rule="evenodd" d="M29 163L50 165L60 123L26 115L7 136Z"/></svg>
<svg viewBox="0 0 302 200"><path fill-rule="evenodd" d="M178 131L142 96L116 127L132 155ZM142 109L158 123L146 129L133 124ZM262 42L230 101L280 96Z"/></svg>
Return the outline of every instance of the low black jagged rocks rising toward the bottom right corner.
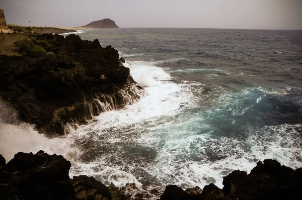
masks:
<svg viewBox="0 0 302 200"><path fill-rule="evenodd" d="M211 183L196 194L169 185L161 199L296 199L302 187L302 168L293 170L276 160L264 160L250 174L233 171L223 177L222 184L223 189Z"/></svg>

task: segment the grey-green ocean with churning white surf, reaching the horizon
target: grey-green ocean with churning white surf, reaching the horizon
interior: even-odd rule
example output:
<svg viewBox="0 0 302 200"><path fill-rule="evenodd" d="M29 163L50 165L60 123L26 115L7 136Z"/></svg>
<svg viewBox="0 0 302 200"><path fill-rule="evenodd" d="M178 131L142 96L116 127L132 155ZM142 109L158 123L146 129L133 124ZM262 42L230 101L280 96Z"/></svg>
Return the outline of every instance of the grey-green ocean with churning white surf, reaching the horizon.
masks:
<svg viewBox="0 0 302 200"><path fill-rule="evenodd" d="M222 188L223 176L249 172L264 159L302 167L302 31L121 28L78 34L118 50L147 95L62 138L10 125L0 147L16 146L8 157L45 149L71 160L70 176L160 191L169 184ZM29 135L30 145L14 145Z"/></svg>

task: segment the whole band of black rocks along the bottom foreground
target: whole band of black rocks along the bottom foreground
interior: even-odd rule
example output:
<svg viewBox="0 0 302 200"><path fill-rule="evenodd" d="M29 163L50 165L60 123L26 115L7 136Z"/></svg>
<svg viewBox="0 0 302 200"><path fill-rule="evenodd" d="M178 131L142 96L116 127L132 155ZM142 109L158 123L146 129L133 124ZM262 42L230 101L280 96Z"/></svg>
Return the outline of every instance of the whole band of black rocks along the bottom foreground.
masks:
<svg viewBox="0 0 302 200"><path fill-rule="evenodd" d="M61 155L19 152L6 164L0 155L0 199L147 199L143 193L131 196L135 184L108 187L86 175L69 179L70 162ZM223 189L213 183L183 190L168 185L160 199L296 199L302 186L302 168L293 170L276 160L259 161L247 174L236 170L223 178Z"/></svg>

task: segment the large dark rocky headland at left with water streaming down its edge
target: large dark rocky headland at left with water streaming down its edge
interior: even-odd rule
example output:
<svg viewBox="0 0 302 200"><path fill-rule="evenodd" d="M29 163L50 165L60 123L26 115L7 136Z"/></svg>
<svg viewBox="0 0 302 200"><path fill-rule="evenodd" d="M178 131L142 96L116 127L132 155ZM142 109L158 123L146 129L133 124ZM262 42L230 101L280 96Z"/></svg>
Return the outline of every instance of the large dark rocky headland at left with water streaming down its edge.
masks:
<svg viewBox="0 0 302 200"><path fill-rule="evenodd" d="M50 44L46 56L0 57L0 97L40 131L63 134L67 123L85 123L144 95L111 46L73 34L36 39Z"/></svg>

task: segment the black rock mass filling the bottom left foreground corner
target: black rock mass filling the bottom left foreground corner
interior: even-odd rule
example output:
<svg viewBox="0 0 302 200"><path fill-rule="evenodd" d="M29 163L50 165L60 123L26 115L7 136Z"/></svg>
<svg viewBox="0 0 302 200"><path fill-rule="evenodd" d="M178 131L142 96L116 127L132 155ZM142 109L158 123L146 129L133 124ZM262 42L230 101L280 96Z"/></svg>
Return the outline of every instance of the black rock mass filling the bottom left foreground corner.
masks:
<svg viewBox="0 0 302 200"><path fill-rule="evenodd" d="M94 177L69 179L70 166L61 155L19 152L0 173L0 199L112 199Z"/></svg>

